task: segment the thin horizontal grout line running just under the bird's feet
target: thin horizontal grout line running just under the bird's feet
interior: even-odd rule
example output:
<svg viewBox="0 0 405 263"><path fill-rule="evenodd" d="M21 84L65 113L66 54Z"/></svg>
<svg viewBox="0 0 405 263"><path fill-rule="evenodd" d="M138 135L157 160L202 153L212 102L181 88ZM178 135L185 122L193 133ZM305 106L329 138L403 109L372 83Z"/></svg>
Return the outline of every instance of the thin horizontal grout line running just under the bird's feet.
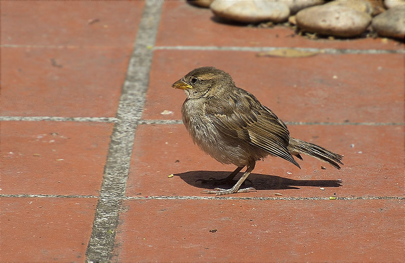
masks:
<svg viewBox="0 0 405 263"><path fill-rule="evenodd" d="M63 194L0 194L0 197L31 197L31 198L98 198L94 195L63 195ZM119 200L330 200L329 197L325 196L313 196L313 197L243 197L243 196L124 196L117 198ZM404 196L342 196L336 197L336 200L404 200Z"/></svg>

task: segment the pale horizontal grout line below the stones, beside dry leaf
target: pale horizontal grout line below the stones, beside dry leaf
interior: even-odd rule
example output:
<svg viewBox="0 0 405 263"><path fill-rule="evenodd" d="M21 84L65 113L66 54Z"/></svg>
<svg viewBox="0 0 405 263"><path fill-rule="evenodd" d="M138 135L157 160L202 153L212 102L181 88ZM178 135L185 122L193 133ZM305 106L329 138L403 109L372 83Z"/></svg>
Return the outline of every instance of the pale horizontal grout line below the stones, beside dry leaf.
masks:
<svg viewBox="0 0 405 263"><path fill-rule="evenodd" d="M278 49L295 49L322 54L404 54L405 49L347 49L347 48L312 48L312 47L271 47L271 46L154 46L153 50L204 50L204 51L250 51L264 52Z"/></svg>

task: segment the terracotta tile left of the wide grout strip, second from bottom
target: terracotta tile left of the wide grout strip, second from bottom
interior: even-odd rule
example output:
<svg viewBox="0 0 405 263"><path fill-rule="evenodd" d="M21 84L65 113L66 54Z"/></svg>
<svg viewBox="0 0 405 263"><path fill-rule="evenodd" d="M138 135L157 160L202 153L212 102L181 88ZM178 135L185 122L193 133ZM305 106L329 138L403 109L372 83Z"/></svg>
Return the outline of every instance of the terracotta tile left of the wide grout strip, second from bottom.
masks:
<svg viewBox="0 0 405 263"><path fill-rule="evenodd" d="M2 194L97 195L111 123L1 124Z"/></svg>

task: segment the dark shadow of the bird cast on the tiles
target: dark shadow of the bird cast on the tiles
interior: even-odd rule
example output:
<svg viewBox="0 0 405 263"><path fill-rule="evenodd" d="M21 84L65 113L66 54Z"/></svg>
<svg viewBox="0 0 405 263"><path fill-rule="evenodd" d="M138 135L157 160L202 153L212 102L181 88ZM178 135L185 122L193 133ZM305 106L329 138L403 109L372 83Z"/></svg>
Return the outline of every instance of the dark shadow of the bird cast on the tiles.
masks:
<svg viewBox="0 0 405 263"><path fill-rule="evenodd" d="M185 173L175 174L175 176L180 176L182 180L186 183L199 187L207 188L208 186L220 187L227 186L232 187L233 184L219 184L214 185L213 183L202 183L197 181L198 179L208 180L209 178L222 179L227 177L230 172L225 171L189 171ZM236 180L240 178L243 173L238 173L235 176ZM249 180L249 181L248 181ZM276 175L263 175L263 174L250 174L248 179L244 182L245 187L254 187L257 190L280 190L280 189L300 189L297 186L316 186L316 187L340 187L340 180L294 180L285 177L280 177ZM242 185L243 187L243 185Z"/></svg>

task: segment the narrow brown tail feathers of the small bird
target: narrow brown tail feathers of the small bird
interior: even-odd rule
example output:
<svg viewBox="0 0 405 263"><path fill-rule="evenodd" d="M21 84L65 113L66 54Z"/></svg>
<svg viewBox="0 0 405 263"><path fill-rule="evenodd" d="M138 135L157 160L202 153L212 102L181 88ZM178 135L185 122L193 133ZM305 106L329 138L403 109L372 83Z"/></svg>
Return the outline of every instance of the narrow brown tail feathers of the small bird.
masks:
<svg viewBox="0 0 405 263"><path fill-rule="evenodd" d="M336 167L337 169L340 169L338 163L343 165L343 163L341 162L343 155L334 153L321 146L306 141L290 137L290 144L288 146L288 150L291 152L291 154L296 155L298 157L300 157L300 153L315 157L316 159L328 163Z"/></svg>

